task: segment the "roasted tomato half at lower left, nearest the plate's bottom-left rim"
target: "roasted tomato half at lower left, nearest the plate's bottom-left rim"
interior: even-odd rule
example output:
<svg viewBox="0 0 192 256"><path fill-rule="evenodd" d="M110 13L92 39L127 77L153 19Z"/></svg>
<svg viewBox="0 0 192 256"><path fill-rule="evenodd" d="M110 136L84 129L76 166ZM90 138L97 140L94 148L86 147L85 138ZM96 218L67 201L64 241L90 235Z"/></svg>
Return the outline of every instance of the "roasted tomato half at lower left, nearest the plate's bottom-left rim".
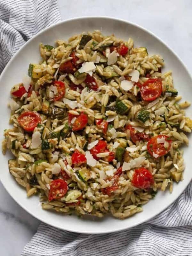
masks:
<svg viewBox="0 0 192 256"><path fill-rule="evenodd" d="M68 191L68 185L65 180L57 179L53 180L50 184L50 190L49 190L49 202L53 199L59 199L62 196L65 196L65 194Z"/></svg>

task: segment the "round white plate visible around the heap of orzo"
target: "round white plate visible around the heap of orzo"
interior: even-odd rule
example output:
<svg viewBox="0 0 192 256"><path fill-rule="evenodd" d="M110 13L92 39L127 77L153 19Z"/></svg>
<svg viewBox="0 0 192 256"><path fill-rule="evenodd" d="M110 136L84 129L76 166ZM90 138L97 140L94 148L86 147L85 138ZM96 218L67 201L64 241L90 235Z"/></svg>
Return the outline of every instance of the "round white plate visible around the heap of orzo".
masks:
<svg viewBox="0 0 192 256"><path fill-rule="evenodd" d="M174 85L178 89L179 94L183 96L183 99L191 101L192 79L186 67L179 57L155 35L138 25L124 20L108 17L76 18L62 21L34 36L21 47L4 69L0 77L1 139L3 139L3 130L8 127L10 116L10 109L7 108L10 89L14 84L21 82L23 75L27 74L29 63L38 63L40 60L39 43L42 42L43 44L53 45L56 39L67 40L74 34L80 34L82 31L92 31L95 29L102 30L104 35L114 33L117 37L125 40L131 36L134 39L135 46L145 46L147 47L149 54L156 53L162 55L165 60L164 70L171 69L173 71ZM191 108L187 110L187 115L192 116ZM192 143L190 143L188 148L186 147L184 149L186 164L184 180L179 184L174 184L172 194L168 191L164 193L159 192L154 200L151 200L148 204L144 205L143 212L137 213L123 221L112 217L105 217L102 219L79 219L76 216L63 216L62 214L42 210L38 197L33 196L27 198L26 191L22 189L10 175L7 161L11 156L8 153L6 156L3 156L2 154L0 155L0 177L4 187L12 198L37 219L54 227L73 232L95 234L109 233L131 228L151 219L178 198L192 178L190 167Z"/></svg>

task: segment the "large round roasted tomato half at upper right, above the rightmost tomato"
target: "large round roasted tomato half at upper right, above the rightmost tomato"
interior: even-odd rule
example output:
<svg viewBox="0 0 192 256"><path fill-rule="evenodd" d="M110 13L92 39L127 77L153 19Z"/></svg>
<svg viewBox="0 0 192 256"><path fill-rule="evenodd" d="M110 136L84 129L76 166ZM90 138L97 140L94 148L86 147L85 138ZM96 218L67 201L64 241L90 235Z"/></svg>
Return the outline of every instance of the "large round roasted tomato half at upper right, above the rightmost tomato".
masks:
<svg viewBox="0 0 192 256"><path fill-rule="evenodd" d="M140 89L143 100L152 101L158 98L162 93L162 81L159 78L149 79Z"/></svg>

